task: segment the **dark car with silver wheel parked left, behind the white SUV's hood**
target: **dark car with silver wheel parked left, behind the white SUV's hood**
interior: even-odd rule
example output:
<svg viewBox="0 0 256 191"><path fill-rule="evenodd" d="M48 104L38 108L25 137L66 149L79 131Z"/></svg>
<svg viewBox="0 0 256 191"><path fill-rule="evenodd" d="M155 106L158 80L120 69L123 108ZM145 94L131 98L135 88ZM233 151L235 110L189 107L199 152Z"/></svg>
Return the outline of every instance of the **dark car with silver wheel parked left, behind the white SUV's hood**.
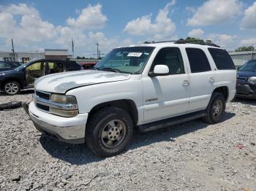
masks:
<svg viewBox="0 0 256 191"><path fill-rule="evenodd" d="M13 70L0 71L0 87L7 95L15 95L20 93L20 90L34 87L34 81L39 77L80 69L81 66L75 61L56 59L31 61Z"/></svg>

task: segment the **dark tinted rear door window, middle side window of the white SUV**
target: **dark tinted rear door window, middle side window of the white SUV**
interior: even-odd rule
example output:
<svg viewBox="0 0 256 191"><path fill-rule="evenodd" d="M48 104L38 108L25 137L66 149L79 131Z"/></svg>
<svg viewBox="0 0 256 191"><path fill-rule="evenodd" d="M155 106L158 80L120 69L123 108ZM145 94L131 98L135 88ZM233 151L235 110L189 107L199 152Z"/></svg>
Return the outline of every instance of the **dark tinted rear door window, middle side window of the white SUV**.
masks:
<svg viewBox="0 0 256 191"><path fill-rule="evenodd" d="M211 71L210 63L205 52L198 48L186 48L192 73Z"/></svg>

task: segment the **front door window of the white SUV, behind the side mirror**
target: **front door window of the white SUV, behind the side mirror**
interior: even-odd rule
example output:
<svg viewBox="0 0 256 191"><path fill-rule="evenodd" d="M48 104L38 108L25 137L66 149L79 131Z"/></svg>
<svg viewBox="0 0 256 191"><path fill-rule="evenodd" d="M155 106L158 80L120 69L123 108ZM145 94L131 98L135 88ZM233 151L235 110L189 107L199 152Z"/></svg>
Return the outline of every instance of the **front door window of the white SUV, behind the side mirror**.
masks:
<svg viewBox="0 0 256 191"><path fill-rule="evenodd" d="M151 71L156 65L166 65L169 68L169 74L184 74L184 63L181 56L181 51L177 47L167 47L159 50L154 62L151 66Z"/></svg>

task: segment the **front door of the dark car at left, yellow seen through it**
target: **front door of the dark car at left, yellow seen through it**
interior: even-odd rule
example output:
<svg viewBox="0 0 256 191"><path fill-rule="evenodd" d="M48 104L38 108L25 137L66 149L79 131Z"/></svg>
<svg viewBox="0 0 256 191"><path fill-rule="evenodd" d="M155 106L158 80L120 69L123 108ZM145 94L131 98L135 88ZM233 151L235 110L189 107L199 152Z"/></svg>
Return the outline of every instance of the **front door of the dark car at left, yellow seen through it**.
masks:
<svg viewBox="0 0 256 191"><path fill-rule="evenodd" d="M34 87L34 81L45 75L45 69L45 62L32 63L26 67L26 85L28 87Z"/></svg>

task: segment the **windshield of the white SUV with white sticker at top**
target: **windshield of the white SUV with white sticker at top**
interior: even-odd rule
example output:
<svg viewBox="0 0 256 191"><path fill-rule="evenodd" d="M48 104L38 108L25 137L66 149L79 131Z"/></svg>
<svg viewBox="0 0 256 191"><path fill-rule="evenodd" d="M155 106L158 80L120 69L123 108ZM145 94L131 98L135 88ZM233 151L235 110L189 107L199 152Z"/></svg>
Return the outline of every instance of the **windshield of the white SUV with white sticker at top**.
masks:
<svg viewBox="0 0 256 191"><path fill-rule="evenodd" d="M116 48L95 66L96 69L129 74L140 74L154 47Z"/></svg>

